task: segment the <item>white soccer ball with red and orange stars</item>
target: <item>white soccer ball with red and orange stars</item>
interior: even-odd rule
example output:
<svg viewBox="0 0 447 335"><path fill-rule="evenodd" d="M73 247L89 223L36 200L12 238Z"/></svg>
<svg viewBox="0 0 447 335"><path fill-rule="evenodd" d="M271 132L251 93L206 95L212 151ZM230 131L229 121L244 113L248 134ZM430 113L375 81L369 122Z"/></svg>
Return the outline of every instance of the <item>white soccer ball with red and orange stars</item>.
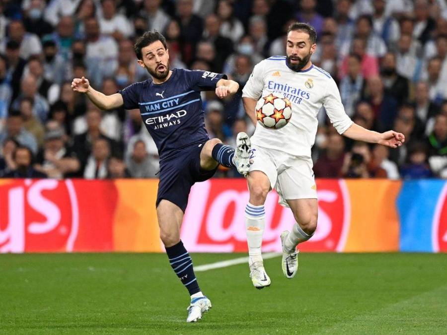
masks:
<svg viewBox="0 0 447 335"><path fill-rule="evenodd" d="M259 99L255 110L258 123L269 129L283 128L292 117L290 100L272 93Z"/></svg>

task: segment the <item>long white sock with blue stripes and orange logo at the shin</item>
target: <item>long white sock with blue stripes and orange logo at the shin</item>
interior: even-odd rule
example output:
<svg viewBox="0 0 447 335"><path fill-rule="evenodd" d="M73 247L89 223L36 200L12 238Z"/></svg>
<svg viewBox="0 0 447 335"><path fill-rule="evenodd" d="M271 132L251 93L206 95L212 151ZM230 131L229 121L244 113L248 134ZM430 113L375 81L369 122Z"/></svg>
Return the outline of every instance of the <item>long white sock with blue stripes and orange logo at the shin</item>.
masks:
<svg viewBox="0 0 447 335"><path fill-rule="evenodd" d="M255 206L249 202L245 207L245 232L247 234L249 264L262 262L261 246L264 227L264 205Z"/></svg>

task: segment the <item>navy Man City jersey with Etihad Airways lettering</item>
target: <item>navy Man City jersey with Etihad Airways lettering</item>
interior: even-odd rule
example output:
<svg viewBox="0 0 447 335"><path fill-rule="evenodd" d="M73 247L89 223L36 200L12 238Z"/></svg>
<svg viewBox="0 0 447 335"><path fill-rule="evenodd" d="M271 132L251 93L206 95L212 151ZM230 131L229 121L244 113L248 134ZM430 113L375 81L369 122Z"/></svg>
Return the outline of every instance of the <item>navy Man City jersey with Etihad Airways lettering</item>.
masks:
<svg viewBox="0 0 447 335"><path fill-rule="evenodd" d="M209 139L200 92L215 89L221 78L226 76L175 68L162 84L148 79L118 92L125 109L140 109L160 159L164 159L174 150Z"/></svg>

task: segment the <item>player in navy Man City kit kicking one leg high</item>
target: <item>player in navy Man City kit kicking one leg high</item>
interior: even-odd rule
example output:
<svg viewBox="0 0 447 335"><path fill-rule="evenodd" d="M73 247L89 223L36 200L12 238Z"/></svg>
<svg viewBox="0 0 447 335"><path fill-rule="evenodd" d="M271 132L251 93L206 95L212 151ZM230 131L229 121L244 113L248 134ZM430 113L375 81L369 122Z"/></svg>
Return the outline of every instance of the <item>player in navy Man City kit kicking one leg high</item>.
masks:
<svg viewBox="0 0 447 335"><path fill-rule="evenodd" d="M211 178L219 164L249 171L250 139L239 133L236 148L210 139L204 122L201 91L215 90L219 98L237 91L239 85L224 74L169 69L166 40L158 32L146 32L135 44L138 64L150 79L137 82L118 93L104 95L84 77L72 82L74 91L85 93L100 109L124 106L139 108L143 122L157 145L160 181L156 201L160 238L169 263L191 295L187 322L202 318L211 308L197 283L191 257L180 240L180 226L191 186Z"/></svg>

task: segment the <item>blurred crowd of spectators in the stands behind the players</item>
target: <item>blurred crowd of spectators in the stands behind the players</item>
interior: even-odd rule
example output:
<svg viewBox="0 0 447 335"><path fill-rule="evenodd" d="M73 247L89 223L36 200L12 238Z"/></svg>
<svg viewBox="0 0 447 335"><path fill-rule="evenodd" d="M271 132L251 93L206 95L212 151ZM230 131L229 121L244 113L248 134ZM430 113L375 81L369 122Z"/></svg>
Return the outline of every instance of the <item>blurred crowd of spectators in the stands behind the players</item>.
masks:
<svg viewBox="0 0 447 335"><path fill-rule="evenodd" d="M133 44L152 29L171 68L240 84L223 101L203 93L210 136L234 144L254 130L241 90L255 64L285 55L296 20L315 27L312 62L336 80L348 115L406 136L394 150L353 143L321 111L315 176L447 178L446 0L0 0L1 176L156 177L139 110L100 111L71 88L81 76L104 94L146 80Z"/></svg>

